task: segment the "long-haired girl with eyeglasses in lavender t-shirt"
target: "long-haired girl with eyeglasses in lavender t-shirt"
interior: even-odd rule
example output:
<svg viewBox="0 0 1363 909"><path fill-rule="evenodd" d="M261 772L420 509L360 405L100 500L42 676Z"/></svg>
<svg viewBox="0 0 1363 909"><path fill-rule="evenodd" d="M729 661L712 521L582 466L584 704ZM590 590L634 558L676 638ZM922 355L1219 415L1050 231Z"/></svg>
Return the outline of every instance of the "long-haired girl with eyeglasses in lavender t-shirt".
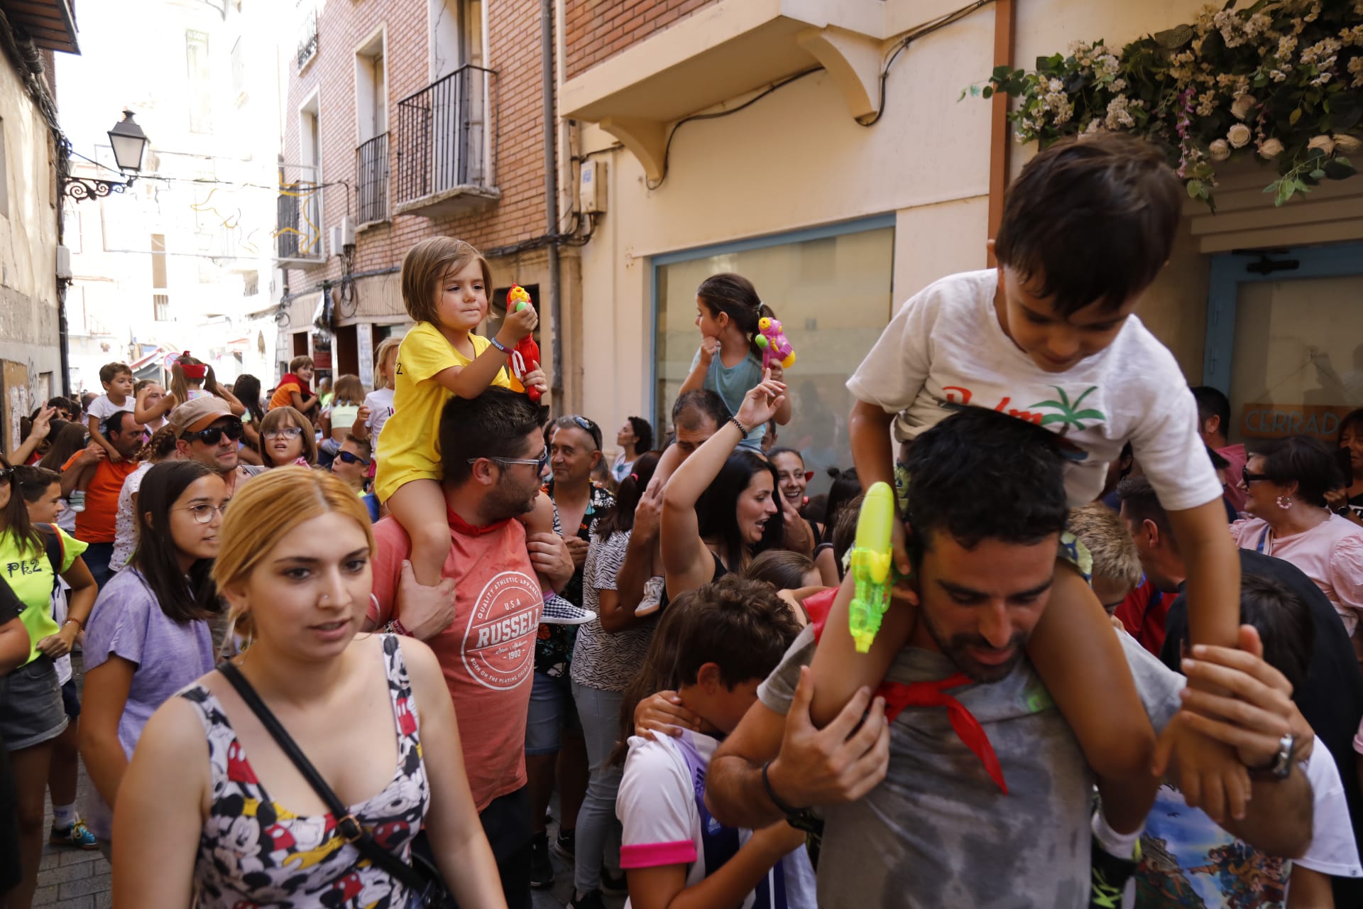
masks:
<svg viewBox="0 0 1363 909"><path fill-rule="evenodd" d="M210 571L228 488L198 461L151 467L138 497L132 561L99 591L85 636L80 754L95 792L91 833L108 854L112 807L142 728L161 703L213 669Z"/></svg>

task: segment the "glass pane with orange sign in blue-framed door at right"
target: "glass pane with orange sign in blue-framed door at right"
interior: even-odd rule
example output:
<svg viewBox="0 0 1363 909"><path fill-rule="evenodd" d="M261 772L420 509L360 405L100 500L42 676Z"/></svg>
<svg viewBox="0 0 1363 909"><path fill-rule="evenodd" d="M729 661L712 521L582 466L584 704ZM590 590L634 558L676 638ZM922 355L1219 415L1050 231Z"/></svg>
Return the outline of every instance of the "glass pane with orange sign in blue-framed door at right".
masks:
<svg viewBox="0 0 1363 909"><path fill-rule="evenodd" d="M1363 407L1363 275L1242 283L1231 360L1231 440L1328 439Z"/></svg>

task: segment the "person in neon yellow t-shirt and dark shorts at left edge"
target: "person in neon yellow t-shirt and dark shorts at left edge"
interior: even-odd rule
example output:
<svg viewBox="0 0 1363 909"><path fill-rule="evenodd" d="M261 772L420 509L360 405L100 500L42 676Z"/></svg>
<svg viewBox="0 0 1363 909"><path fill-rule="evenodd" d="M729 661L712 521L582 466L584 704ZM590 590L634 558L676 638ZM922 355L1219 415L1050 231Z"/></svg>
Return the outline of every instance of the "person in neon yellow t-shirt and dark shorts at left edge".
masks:
<svg viewBox="0 0 1363 909"><path fill-rule="evenodd" d="M94 605L95 585L80 560L86 544L60 529L34 526L10 462L0 458L0 572L23 602L29 656L5 676L0 698L0 740L10 750L19 793L19 844L23 880L7 894L11 909L27 909L38 883L42 853L42 803L53 741L67 728L56 660L71 653ZM52 617L52 591L60 574L71 585L67 617Z"/></svg>

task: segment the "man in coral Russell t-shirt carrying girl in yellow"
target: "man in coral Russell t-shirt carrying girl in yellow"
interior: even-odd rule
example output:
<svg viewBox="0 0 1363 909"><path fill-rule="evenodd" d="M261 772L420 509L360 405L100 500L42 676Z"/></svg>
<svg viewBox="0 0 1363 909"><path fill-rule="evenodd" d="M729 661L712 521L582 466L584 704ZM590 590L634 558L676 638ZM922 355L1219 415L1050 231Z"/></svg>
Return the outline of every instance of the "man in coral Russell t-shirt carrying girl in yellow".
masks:
<svg viewBox="0 0 1363 909"><path fill-rule="evenodd" d="M540 495L547 413L523 394L496 387L446 405L440 451L450 555L440 587L416 583L406 563L412 541L402 525L384 518L373 527L378 553L367 624L391 623L398 634L423 638L440 661L469 789L510 909L530 908L525 726L544 605L536 574L562 589L574 571L557 534L527 537L517 521ZM401 418L401 412L390 417ZM458 604L451 611L447 601L455 589Z"/></svg>

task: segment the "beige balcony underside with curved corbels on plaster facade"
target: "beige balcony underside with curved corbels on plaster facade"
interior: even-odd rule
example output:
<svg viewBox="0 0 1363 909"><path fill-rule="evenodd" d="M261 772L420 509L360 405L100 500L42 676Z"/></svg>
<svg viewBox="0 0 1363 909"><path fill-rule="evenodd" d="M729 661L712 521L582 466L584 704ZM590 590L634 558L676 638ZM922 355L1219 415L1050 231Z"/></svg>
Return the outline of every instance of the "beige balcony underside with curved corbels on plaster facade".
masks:
<svg viewBox="0 0 1363 909"><path fill-rule="evenodd" d="M577 0L586 3L586 0ZM852 117L879 108L880 68L897 38L960 5L958 0L717 0L632 44L568 71L559 113L600 124L662 177L668 124L814 68Z"/></svg>

